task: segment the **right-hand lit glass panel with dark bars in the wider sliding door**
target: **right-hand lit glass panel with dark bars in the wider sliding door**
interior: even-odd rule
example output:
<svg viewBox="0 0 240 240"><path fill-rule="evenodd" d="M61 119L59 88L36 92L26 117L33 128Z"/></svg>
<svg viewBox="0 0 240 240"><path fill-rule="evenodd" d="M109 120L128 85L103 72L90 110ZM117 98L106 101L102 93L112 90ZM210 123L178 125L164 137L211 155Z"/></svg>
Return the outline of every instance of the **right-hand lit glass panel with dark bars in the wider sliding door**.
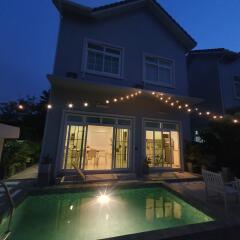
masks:
<svg viewBox="0 0 240 240"><path fill-rule="evenodd" d="M117 128L115 137L115 168L127 168L129 130Z"/></svg>

